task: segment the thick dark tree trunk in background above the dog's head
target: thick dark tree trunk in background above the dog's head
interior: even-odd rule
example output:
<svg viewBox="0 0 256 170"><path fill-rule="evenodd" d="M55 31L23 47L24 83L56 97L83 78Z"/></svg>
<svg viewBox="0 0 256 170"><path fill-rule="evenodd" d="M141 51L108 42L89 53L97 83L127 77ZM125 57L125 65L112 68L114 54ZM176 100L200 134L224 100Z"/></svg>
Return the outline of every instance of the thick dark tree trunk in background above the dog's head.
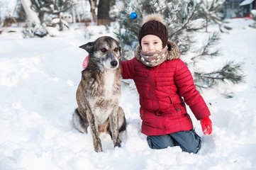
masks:
<svg viewBox="0 0 256 170"><path fill-rule="evenodd" d="M111 19L109 18L109 10L110 10L110 1L99 0L97 26L100 26L100 25L110 26Z"/></svg>

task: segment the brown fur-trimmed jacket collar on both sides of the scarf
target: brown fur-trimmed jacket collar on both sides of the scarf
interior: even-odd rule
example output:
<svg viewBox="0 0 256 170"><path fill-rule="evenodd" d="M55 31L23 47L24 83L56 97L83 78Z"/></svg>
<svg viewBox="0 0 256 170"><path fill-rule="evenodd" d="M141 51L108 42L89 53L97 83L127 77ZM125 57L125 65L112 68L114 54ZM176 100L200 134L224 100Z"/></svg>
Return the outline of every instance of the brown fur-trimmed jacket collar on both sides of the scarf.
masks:
<svg viewBox="0 0 256 170"><path fill-rule="evenodd" d="M171 40L168 40L167 47L168 47L168 56L166 57L165 61L178 59L180 57L180 50L177 44L175 44ZM137 47L135 47L135 50L134 50L134 56L138 61L141 62L140 50L141 50L140 45L137 45Z"/></svg>

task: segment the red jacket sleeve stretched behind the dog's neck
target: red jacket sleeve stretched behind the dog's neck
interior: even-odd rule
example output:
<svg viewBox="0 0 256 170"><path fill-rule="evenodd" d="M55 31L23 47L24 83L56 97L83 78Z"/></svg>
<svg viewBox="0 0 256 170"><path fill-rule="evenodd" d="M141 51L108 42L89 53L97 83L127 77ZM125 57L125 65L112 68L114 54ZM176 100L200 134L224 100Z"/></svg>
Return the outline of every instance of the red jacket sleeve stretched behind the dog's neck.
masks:
<svg viewBox="0 0 256 170"><path fill-rule="evenodd" d="M133 79L135 73L135 58L132 60L121 61L121 72L123 79Z"/></svg>

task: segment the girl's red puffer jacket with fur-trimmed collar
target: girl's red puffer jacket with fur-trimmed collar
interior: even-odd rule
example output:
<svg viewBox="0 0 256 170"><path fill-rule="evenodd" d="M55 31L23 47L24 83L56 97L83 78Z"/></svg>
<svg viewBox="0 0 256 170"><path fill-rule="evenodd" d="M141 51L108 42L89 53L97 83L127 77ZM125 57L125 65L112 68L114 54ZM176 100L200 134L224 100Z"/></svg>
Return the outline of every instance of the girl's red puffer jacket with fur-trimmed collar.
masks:
<svg viewBox="0 0 256 170"><path fill-rule="evenodd" d="M168 42L169 56L150 69L140 62L140 47L135 58L121 62L123 79L133 79L140 94L140 118L145 135L165 135L193 129L186 106L201 120L211 115L188 67L179 59L179 49ZM182 97L184 98L184 101Z"/></svg>

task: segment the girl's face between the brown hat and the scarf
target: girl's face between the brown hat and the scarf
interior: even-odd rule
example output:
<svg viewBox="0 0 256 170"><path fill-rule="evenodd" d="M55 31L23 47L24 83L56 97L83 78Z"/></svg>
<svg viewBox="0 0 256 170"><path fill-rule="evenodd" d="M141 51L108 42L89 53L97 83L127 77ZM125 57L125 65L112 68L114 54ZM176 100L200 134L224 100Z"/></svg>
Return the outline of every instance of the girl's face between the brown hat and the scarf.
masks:
<svg viewBox="0 0 256 170"><path fill-rule="evenodd" d="M143 52L155 52L162 50L162 40L156 35L145 35L141 39Z"/></svg>

